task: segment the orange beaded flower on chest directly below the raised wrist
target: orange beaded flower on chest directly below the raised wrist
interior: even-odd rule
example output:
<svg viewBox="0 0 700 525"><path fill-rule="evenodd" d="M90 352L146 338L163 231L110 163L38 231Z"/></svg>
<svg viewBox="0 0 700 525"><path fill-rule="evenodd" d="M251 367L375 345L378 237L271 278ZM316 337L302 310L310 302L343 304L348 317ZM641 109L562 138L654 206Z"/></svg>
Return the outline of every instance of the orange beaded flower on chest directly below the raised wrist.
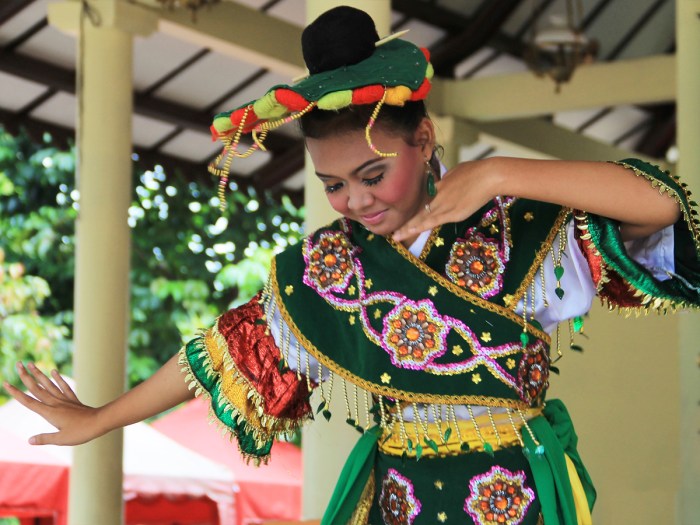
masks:
<svg viewBox="0 0 700 525"><path fill-rule="evenodd" d="M504 267L496 241L472 233L452 245L445 272L458 286L486 299L501 291Z"/></svg>

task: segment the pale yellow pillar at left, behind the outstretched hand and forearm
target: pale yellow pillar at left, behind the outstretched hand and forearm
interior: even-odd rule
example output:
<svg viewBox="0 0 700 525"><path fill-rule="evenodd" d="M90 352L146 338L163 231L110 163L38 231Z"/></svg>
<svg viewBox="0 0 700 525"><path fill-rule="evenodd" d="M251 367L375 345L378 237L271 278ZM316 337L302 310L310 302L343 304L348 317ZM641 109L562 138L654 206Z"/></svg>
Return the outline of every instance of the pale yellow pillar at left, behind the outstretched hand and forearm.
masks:
<svg viewBox="0 0 700 525"><path fill-rule="evenodd" d="M129 323L132 16L123 0L52 5L51 23L78 34L75 353L77 393L102 405L124 391ZM141 17L142 18L142 17ZM153 27L154 28L154 27ZM121 431L75 448L70 525L119 525Z"/></svg>

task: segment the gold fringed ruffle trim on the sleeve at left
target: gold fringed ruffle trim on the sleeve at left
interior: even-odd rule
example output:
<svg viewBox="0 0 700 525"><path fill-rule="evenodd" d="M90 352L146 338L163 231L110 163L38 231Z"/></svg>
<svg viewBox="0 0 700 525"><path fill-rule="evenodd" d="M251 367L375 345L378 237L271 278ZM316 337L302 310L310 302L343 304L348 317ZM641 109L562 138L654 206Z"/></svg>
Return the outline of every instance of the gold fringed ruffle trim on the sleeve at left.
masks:
<svg viewBox="0 0 700 525"><path fill-rule="evenodd" d="M200 337L202 339L201 349L196 355L196 359L204 362L207 377L215 378L220 383L217 405L224 407L225 412L231 413L238 424L243 423L245 431L253 435L257 446L263 446L268 441L283 437L302 426L307 418L278 418L265 413L264 398L238 370L227 351L226 340L219 333L216 325L202 333ZM178 363L183 367L182 371L186 372L185 381L189 384L190 390L194 388L196 396L204 394L208 399L211 399L211 394L192 371L187 359L186 347L180 350ZM230 437L235 436L235 431L216 417L211 406L209 414L210 419L215 419L219 423L219 427L225 430ZM244 451L241 452L247 459L260 459Z"/></svg>

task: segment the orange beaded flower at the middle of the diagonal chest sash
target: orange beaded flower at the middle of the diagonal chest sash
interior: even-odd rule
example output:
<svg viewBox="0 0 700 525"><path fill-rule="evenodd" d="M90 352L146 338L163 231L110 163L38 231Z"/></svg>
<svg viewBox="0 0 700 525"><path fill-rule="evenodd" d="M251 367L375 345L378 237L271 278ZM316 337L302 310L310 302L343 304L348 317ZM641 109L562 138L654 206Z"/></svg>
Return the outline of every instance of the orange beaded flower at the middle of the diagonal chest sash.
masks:
<svg viewBox="0 0 700 525"><path fill-rule="evenodd" d="M422 370L445 353L446 326L429 300L405 301L384 318L382 346L401 368Z"/></svg>

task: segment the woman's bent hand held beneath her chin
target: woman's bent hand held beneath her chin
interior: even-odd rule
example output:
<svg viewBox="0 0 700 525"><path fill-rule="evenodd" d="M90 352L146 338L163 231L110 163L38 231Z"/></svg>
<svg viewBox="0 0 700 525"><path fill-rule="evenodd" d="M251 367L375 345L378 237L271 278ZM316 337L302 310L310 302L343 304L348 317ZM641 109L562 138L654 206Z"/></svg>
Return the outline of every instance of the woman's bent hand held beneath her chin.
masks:
<svg viewBox="0 0 700 525"><path fill-rule="evenodd" d="M493 164L492 159L463 162L445 173L435 183L435 197L394 232L394 240L401 242L436 226L463 221L499 195L498 170Z"/></svg>

